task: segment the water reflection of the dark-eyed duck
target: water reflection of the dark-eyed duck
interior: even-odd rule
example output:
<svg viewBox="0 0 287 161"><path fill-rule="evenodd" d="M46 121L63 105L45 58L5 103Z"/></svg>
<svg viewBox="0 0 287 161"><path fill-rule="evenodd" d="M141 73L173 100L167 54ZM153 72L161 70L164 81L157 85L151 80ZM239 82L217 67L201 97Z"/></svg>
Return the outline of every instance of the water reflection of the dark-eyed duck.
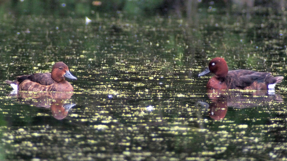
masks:
<svg viewBox="0 0 287 161"><path fill-rule="evenodd" d="M61 120L68 115L68 111L76 104L69 103L72 92L28 92L18 91L17 98L24 103L36 107L51 108L55 119Z"/></svg>

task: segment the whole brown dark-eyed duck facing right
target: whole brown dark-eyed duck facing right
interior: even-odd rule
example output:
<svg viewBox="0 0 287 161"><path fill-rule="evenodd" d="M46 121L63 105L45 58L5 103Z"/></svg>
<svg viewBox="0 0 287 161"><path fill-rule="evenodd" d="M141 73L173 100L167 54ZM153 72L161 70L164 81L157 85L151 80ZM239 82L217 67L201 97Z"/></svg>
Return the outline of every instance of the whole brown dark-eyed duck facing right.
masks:
<svg viewBox="0 0 287 161"><path fill-rule="evenodd" d="M58 91L72 92L73 86L65 80L65 77L77 79L69 72L68 66L63 62L56 62L49 73L35 73L17 76L16 80L6 80L14 90L18 91Z"/></svg>

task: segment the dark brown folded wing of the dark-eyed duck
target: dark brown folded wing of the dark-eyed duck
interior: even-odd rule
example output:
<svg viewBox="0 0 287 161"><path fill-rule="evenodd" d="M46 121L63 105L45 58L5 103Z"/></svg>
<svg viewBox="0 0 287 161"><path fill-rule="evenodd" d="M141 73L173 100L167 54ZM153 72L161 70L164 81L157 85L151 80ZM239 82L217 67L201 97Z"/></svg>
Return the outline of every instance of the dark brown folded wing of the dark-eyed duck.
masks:
<svg viewBox="0 0 287 161"><path fill-rule="evenodd" d="M30 75L22 75L22 76L17 76L16 80L19 83L22 83L24 80L30 80L32 82L39 83L41 85L51 85L53 83L56 83L55 80L52 79L51 73L35 73L35 74L30 74Z"/></svg>

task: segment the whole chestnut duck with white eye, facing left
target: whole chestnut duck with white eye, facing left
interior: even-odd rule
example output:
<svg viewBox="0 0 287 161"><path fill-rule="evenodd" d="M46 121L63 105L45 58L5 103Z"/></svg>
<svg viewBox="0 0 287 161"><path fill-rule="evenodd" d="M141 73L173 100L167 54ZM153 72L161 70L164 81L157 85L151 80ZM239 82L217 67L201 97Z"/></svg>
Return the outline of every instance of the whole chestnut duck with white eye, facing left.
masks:
<svg viewBox="0 0 287 161"><path fill-rule="evenodd" d="M274 89L276 83L282 82L283 76L274 77L268 72L253 70L231 70L223 58L214 58L208 64L208 68L198 76L208 73L215 75L210 78L206 87L208 89Z"/></svg>

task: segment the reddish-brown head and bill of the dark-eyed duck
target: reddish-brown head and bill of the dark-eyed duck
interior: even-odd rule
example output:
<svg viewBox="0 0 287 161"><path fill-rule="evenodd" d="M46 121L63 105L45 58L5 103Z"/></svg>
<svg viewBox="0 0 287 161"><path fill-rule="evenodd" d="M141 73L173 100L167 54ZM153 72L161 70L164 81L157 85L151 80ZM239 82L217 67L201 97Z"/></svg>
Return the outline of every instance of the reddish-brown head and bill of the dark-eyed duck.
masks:
<svg viewBox="0 0 287 161"><path fill-rule="evenodd" d="M56 62L54 64L51 72L51 77L56 82L65 80L65 77L77 80L77 78L70 73L68 66L63 62Z"/></svg>

